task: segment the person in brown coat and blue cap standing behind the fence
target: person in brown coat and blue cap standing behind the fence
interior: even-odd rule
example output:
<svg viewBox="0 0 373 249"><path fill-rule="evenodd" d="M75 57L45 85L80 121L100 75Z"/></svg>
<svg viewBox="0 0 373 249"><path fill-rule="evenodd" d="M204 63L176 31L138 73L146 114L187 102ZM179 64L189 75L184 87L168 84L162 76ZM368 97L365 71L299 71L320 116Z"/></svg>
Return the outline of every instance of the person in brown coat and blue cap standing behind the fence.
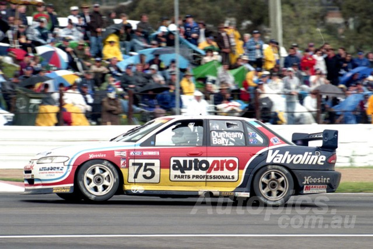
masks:
<svg viewBox="0 0 373 249"><path fill-rule="evenodd" d="M107 88L107 97L101 102L101 125L120 125L119 114L122 113L122 104L116 97L113 87Z"/></svg>

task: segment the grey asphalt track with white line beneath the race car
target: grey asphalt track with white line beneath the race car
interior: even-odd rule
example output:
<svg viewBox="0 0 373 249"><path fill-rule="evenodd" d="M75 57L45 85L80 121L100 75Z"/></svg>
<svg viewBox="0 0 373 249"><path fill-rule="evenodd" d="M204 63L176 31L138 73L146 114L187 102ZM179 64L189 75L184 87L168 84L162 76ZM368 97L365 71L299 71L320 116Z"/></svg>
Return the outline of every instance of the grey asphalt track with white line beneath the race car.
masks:
<svg viewBox="0 0 373 249"><path fill-rule="evenodd" d="M292 197L272 208L226 198L89 204L0 193L0 248L372 248L372 212L373 194Z"/></svg>

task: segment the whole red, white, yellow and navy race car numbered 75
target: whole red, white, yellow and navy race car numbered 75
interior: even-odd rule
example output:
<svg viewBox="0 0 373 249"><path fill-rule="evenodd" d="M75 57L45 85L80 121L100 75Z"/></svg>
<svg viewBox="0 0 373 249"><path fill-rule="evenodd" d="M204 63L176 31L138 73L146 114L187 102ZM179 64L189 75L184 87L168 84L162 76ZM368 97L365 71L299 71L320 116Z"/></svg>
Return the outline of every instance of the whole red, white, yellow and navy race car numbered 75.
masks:
<svg viewBox="0 0 373 249"><path fill-rule="evenodd" d="M309 141L322 140L319 147ZM291 195L335 192L338 131L288 141L256 119L165 116L107 142L37 154L24 167L25 193L102 202L115 194L256 196L278 206Z"/></svg>

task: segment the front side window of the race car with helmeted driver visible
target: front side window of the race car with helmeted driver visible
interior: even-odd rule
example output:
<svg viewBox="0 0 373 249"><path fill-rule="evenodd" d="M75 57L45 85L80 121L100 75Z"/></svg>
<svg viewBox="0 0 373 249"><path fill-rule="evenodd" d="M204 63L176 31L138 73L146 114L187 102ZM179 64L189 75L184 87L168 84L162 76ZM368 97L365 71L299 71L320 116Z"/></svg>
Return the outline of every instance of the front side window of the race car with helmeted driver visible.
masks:
<svg viewBox="0 0 373 249"><path fill-rule="evenodd" d="M202 146L203 121L175 122L156 135L156 146Z"/></svg>

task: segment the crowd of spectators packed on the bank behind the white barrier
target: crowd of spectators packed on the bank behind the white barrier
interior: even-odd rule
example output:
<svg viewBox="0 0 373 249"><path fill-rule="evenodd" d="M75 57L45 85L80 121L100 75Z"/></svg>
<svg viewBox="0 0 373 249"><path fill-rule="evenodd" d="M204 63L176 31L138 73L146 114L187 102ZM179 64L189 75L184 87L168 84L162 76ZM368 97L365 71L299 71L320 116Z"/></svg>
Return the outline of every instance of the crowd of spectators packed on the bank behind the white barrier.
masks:
<svg viewBox="0 0 373 249"><path fill-rule="evenodd" d="M159 27L154 29L148 22L147 14L142 14L137 28L133 29L125 13L117 15L116 12L110 12L104 16L99 4L82 4L69 7L68 24L60 27L53 4L41 4L32 14L32 25L28 25L27 7L16 4L7 6L6 2L0 2L0 42L9 43L27 53L21 61L16 62L19 71L2 83L3 108L14 112L13 99L22 81L32 75L43 76L50 71L45 65L42 66L35 48L57 46L68 56L68 69L76 72L80 78L68 89L63 84L59 85L63 91L62 99L56 92L46 95L47 99L41 105L60 106L66 113L82 114L81 119L75 117L75 120L79 120L76 122L71 115L65 115L66 125L120 124L120 114L127 113L129 109L152 113L153 116L175 113L177 81L183 96L179 101L180 108L184 109L185 114L220 113L217 110L225 110L221 113L226 114L234 110L241 115L245 112L245 109L240 108L242 100L248 103L245 106L253 107L254 96L258 93L260 100L269 99L272 106L281 106L279 102L284 101L281 110L276 106L277 109L271 108L270 111L278 111L277 119L287 124L305 123L305 119L314 122L317 112L315 89L320 85L334 85L343 94L323 95L322 108L327 113L323 122L338 123L346 122L345 115L343 112L334 112L333 106L352 94L372 91L373 87L373 74L356 73L350 80L340 84L341 77L355 68L372 68L373 52L358 51L353 58L343 47L335 53L335 49L327 43L321 47L308 43L305 49L294 43L288 48L288 55L281 58L276 40L263 41L258 30L244 34L241 39L233 23L222 23L215 31L210 30L203 21L196 22L192 15L186 15L176 22L162 18ZM117 17L121 19L120 24L113 21ZM117 30L106 34L110 28ZM117 65L123 58L142 49L175 46L177 34L206 52L200 64L213 60L222 64L215 80L203 81L203 89L196 89L195 81L198 79L193 77L191 66L180 71L181 78L177 79L175 60L165 65L159 55L150 61L140 55L140 63L127 65L124 70ZM74 42L76 47L72 46ZM242 82L242 88L229 71L241 66L250 69ZM26 87L32 91L50 91L48 84ZM128 94L130 91L134 93L131 101L129 97L132 95ZM368 97L364 96L352 112L356 122L369 122L373 109L369 106L373 105L373 100ZM130 103L133 105L129 106ZM297 114L303 113L303 110L310 114L308 118ZM102 113L102 116L95 115L97 112ZM283 112L286 118L279 118L279 112ZM268 122L273 122L272 118Z"/></svg>

